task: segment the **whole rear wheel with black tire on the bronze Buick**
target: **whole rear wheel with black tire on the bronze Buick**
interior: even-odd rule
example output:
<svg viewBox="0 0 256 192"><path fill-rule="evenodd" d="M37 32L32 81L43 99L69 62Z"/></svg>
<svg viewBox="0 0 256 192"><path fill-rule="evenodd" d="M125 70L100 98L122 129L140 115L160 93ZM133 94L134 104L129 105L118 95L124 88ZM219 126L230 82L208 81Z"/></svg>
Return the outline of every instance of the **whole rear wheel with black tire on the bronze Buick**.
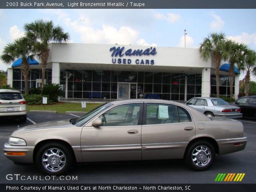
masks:
<svg viewBox="0 0 256 192"><path fill-rule="evenodd" d="M196 171L203 171L210 167L215 158L215 150L207 141L192 144L185 157L186 164Z"/></svg>

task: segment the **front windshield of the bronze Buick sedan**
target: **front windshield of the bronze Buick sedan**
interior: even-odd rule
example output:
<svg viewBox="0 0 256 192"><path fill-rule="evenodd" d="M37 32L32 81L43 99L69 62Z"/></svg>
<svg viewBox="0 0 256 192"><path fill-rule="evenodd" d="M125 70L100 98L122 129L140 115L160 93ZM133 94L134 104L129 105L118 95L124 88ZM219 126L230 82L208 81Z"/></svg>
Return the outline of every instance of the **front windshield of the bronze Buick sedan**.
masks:
<svg viewBox="0 0 256 192"><path fill-rule="evenodd" d="M113 104L110 103L104 103L100 106L98 106L97 108L91 110L90 112L86 113L84 116L77 118L75 120L70 120L70 123L72 123L75 126L83 126L84 124L86 124L92 117L96 116L97 114L99 114L100 112L104 111L106 108L108 108L109 106L112 106Z"/></svg>

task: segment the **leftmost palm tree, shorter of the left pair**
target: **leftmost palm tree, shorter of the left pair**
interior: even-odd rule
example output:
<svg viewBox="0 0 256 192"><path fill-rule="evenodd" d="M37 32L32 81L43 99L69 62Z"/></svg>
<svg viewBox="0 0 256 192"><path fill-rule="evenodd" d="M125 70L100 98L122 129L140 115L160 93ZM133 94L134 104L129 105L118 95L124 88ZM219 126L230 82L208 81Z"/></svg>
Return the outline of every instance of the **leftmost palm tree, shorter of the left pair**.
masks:
<svg viewBox="0 0 256 192"><path fill-rule="evenodd" d="M29 74L29 59L34 59L32 54L32 47L28 43L28 39L23 37L14 40L13 43L9 43L4 47L1 59L6 63L10 64L15 60L22 58L21 71L24 76L25 82L25 94L28 94L28 74Z"/></svg>

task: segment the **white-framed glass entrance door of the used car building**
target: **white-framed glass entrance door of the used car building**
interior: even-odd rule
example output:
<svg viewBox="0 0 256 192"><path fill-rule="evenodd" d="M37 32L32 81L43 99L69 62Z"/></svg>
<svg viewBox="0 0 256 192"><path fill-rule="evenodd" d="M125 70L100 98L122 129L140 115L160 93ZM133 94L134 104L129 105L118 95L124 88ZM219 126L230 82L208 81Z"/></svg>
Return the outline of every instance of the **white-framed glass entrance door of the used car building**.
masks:
<svg viewBox="0 0 256 192"><path fill-rule="evenodd" d="M136 83L118 83L118 99L136 99Z"/></svg>

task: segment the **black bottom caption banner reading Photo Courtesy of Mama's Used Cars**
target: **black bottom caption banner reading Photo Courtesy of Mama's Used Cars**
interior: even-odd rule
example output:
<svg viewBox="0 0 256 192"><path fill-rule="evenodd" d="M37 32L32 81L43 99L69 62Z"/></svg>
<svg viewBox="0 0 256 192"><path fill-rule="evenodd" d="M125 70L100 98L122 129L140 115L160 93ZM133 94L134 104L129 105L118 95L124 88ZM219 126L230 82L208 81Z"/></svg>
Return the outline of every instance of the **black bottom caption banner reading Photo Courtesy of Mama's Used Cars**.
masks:
<svg viewBox="0 0 256 192"><path fill-rule="evenodd" d="M255 192L256 184L0 184L0 190L1 192Z"/></svg>

